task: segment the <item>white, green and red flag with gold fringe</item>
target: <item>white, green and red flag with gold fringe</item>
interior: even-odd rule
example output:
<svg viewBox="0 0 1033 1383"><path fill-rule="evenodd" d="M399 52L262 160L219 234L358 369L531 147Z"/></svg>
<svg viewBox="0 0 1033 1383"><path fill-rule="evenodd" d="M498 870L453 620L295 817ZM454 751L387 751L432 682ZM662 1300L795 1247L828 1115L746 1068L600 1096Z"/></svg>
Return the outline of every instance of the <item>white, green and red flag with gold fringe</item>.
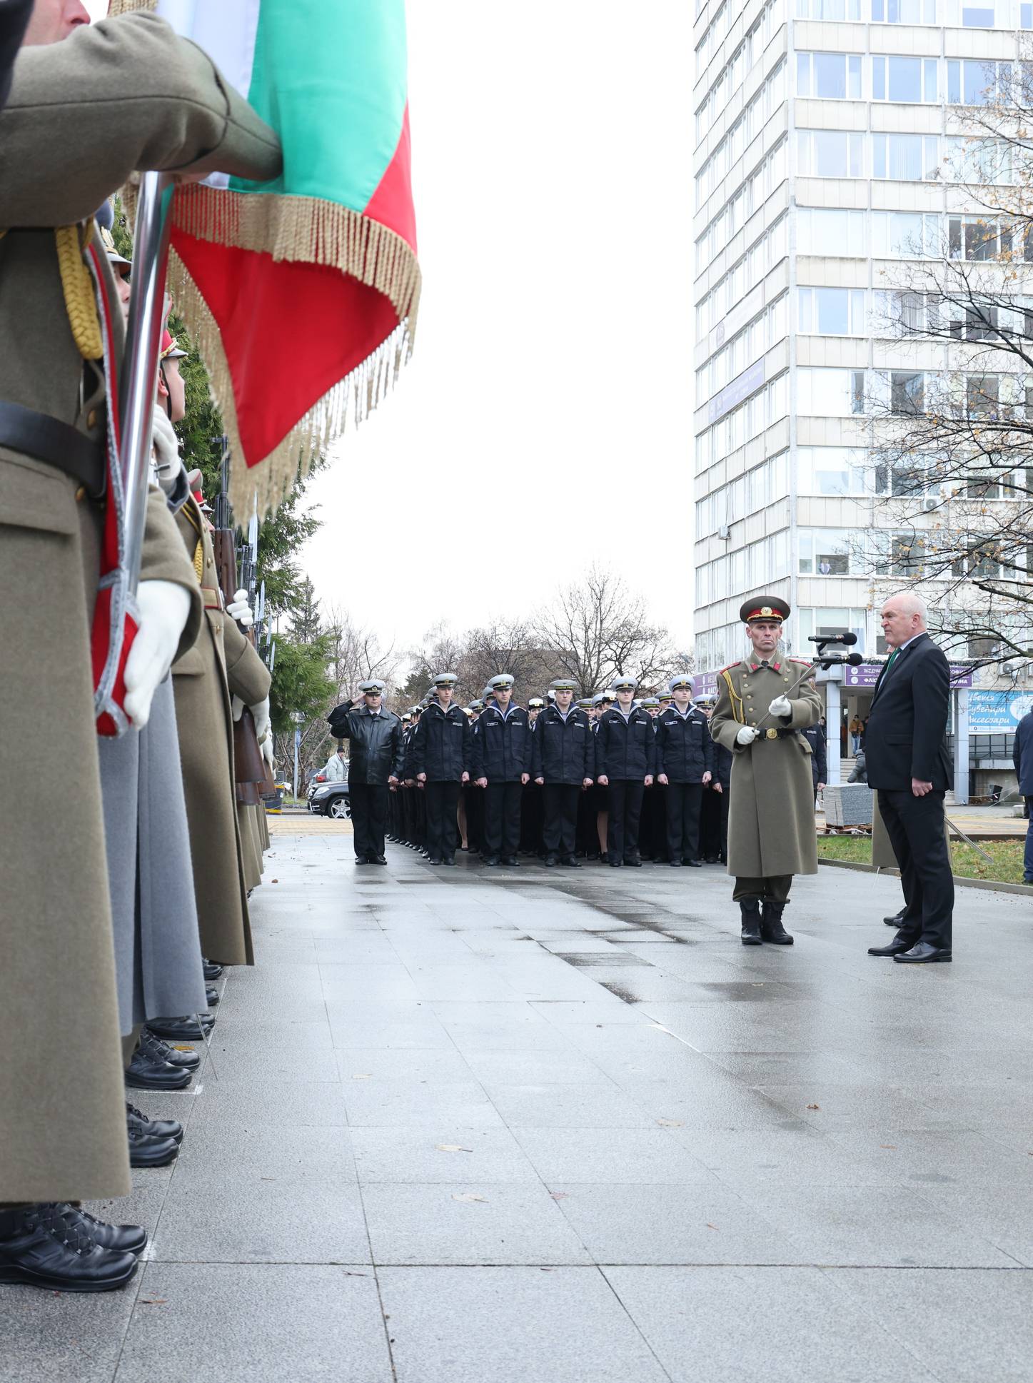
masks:
<svg viewBox="0 0 1033 1383"><path fill-rule="evenodd" d="M275 183L180 187L169 257L223 409L231 502L264 512L412 347L404 0L112 0L130 10L205 48L283 147Z"/></svg>

